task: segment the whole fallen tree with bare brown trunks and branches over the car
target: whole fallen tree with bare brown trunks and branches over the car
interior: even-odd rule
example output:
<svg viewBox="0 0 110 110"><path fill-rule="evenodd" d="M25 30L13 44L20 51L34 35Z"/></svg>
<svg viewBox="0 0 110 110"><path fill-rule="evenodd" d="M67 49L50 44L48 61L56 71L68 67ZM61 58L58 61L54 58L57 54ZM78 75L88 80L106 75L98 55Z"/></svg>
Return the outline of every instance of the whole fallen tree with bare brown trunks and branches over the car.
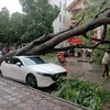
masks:
<svg viewBox="0 0 110 110"><path fill-rule="evenodd" d="M100 16L106 12L103 16ZM47 34L43 35L37 40L32 41L29 45L24 46L21 50L16 50L13 53L9 53L0 58L0 62L6 59L6 57L12 57L14 55L21 56L21 55L43 55L52 52L58 52L58 51L66 51L69 48L97 48L100 44L110 44L110 41L106 41L106 32L107 32L107 25L110 24L110 8L107 8L99 12L95 18L86 22L85 24L77 26L80 21L82 21L85 18L85 14L80 18L78 22L76 22L74 25L72 25L69 29L55 33L55 34ZM62 43L63 41L72 37L72 36L84 36L86 38L89 38L87 36L87 32L95 30L98 26L103 25L103 31L101 34L101 38L96 40L98 41L97 44L92 46L86 46L86 45L70 45L62 48L56 48L56 45ZM94 40L94 38L92 38Z"/></svg>

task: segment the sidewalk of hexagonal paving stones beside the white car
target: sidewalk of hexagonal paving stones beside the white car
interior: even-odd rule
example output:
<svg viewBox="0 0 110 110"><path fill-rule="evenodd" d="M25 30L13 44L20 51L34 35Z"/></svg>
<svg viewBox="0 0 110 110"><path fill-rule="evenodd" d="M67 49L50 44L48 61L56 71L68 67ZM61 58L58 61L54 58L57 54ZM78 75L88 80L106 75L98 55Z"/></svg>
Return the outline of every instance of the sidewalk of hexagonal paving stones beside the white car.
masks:
<svg viewBox="0 0 110 110"><path fill-rule="evenodd" d="M0 77L0 110L87 110L41 90Z"/></svg>

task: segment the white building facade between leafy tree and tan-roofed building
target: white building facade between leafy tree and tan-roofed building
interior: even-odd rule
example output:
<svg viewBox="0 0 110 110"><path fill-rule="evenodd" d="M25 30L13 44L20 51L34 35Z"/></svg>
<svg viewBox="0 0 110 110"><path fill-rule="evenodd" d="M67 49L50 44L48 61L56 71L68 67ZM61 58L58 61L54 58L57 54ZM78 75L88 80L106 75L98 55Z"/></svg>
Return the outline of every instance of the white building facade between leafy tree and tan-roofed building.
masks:
<svg viewBox="0 0 110 110"><path fill-rule="evenodd" d="M61 9L58 18L53 22L54 33L63 31L69 26L72 14L66 11L66 8L74 0L48 0L48 3L52 6L56 4Z"/></svg>

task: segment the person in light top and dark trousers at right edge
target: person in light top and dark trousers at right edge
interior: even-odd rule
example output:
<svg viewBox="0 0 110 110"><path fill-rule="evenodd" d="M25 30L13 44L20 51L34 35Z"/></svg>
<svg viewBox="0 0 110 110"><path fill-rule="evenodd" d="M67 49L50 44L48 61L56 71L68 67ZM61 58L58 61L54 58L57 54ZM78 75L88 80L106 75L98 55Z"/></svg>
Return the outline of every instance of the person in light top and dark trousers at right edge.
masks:
<svg viewBox="0 0 110 110"><path fill-rule="evenodd" d="M109 61L110 61L110 50L106 51L102 58L102 77L109 78Z"/></svg>

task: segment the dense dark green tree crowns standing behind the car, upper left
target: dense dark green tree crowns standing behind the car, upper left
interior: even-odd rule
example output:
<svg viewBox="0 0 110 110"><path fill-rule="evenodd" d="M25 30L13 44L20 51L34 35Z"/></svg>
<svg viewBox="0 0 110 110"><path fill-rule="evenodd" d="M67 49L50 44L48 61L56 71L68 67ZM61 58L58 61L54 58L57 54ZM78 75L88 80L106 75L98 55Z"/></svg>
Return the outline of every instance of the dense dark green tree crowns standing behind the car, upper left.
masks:
<svg viewBox="0 0 110 110"><path fill-rule="evenodd" d="M59 13L56 6L48 4L47 0L20 0L20 3L24 13L14 12L10 15L7 8L0 11L1 43L31 42L53 32L53 21Z"/></svg>

